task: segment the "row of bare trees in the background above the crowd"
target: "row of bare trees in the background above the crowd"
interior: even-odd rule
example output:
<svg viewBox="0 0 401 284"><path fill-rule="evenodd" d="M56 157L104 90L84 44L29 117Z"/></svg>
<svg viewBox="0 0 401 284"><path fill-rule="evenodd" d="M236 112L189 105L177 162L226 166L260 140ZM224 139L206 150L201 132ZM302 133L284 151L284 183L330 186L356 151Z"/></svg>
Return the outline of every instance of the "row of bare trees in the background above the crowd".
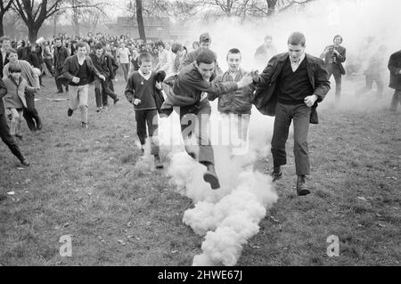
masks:
<svg viewBox="0 0 401 284"><path fill-rule="evenodd" d="M188 21L194 18L214 20L221 16L269 17L295 5L316 0L130 0L127 10L137 20L141 39L146 41L143 17L174 17ZM77 34L84 20L96 25L107 16L106 0L0 0L0 37L4 35L4 16L17 15L28 28L29 41L35 42L45 20L53 19L54 27L62 14L69 14Z"/></svg>

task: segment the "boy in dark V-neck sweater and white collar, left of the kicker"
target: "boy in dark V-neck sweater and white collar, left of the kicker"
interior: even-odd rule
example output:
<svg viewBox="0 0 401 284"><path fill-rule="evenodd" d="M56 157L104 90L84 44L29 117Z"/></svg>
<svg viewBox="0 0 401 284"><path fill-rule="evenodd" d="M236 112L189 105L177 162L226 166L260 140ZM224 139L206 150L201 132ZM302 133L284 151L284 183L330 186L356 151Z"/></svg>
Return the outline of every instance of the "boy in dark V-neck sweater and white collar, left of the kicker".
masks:
<svg viewBox="0 0 401 284"><path fill-rule="evenodd" d="M134 105L136 134L141 142L142 153L143 145L149 136L151 139L151 155L154 156L155 166L162 168L157 137L153 137L158 129L158 110L154 93L157 92L156 88L161 90L161 84L156 83L157 73L151 72L151 54L141 53L138 56L138 64L139 70L134 71L128 79L125 95L127 100ZM149 135L146 132L146 125Z"/></svg>

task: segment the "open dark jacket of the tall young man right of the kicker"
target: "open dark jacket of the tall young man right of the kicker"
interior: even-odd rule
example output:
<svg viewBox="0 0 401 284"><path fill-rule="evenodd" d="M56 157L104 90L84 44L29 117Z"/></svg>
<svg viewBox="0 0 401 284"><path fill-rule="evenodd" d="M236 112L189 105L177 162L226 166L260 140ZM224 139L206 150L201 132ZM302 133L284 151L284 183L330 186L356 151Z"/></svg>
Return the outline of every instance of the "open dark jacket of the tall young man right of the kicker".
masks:
<svg viewBox="0 0 401 284"><path fill-rule="evenodd" d="M275 115L278 96L276 92L277 79L282 73L285 61L288 59L288 53L275 55L258 77L255 99L252 102L264 115L272 117ZM323 101L326 93L330 91L330 81L327 79L327 70L322 60L309 54L306 54L304 60L307 61L307 76L314 89L313 94L317 95L317 101L312 107L310 123L317 124L317 102Z"/></svg>

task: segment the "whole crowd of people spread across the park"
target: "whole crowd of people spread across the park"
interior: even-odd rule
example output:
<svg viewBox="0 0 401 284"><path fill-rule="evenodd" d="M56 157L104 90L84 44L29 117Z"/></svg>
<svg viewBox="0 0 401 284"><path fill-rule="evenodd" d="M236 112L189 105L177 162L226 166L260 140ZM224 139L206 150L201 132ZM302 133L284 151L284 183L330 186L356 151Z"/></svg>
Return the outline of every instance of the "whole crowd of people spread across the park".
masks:
<svg viewBox="0 0 401 284"><path fill-rule="evenodd" d="M305 53L306 38L299 32L288 38L288 52L277 54L273 37L266 36L255 53L255 60L265 69L247 72L241 69L241 51L231 48L226 53L227 70L217 63L211 51L209 33L201 34L199 42L190 48L177 42L146 42L128 37L106 37L101 33L81 37L40 38L34 44L23 40L12 41L2 37L0 80L0 134L2 140L29 166L16 140L22 140L21 123L25 118L29 130L40 131L42 122L35 107L35 93L42 77L54 77L56 92L69 93L68 117L79 110L81 126L88 127L88 85L94 83L96 111L108 108L108 97L119 101L113 80L117 72L127 83L125 96L134 105L136 131L142 145L151 140L151 155L155 166L162 168L157 137L158 118L168 116L175 109L180 116L184 141L197 137L194 150L185 143L185 150L206 166L205 182L218 189L213 147L209 139L209 101L218 99L218 111L234 116L239 124L241 139L246 140L252 104L264 115L274 116L272 154L274 182L282 178L281 166L287 163L285 143L291 122L294 124L294 157L297 192L307 195L306 176L310 174L307 133L309 123L318 123L316 107L330 90L330 78L335 79L335 98L340 101L341 77L346 75L346 48L340 35L333 37L320 58ZM366 86L357 90L362 94L378 85L377 95L382 96L382 73L387 51L381 45L372 54L364 69ZM390 87L395 89L390 110L397 110L401 101L401 52L389 60ZM355 67L353 67L355 68ZM120 71L118 71L120 69ZM205 119L206 117L206 119ZM195 120L192 120L194 118ZM199 124L193 132L185 131L190 121ZM192 124L193 126L193 124ZM188 147L187 147L188 146Z"/></svg>

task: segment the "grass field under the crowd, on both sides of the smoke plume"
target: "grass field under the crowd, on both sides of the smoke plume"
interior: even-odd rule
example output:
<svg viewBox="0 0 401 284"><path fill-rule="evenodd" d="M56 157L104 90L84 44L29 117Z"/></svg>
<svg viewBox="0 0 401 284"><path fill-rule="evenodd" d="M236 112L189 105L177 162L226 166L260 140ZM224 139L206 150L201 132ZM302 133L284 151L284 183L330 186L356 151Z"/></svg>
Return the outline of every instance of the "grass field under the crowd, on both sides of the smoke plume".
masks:
<svg viewBox="0 0 401 284"><path fill-rule="evenodd" d="M192 200L172 191L165 174L135 169L140 151L124 84L116 83L121 101L101 113L90 92L85 130L77 113L67 117L68 101L46 100L67 95L44 83L37 95L44 129L29 133L24 122L20 142L31 166L19 169L0 143L0 264L191 265L202 242L182 223ZM356 99L354 87L344 82L337 108L329 93L311 126L306 198L295 194L289 140L278 202L238 265L399 265L401 110L385 110L389 90L378 102L373 93ZM267 174L271 166L260 158L256 168ZM71 257L59 254L63 235L71 236ZM331 235L340 238L338 257L326 254Z"/></svg>

